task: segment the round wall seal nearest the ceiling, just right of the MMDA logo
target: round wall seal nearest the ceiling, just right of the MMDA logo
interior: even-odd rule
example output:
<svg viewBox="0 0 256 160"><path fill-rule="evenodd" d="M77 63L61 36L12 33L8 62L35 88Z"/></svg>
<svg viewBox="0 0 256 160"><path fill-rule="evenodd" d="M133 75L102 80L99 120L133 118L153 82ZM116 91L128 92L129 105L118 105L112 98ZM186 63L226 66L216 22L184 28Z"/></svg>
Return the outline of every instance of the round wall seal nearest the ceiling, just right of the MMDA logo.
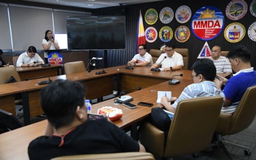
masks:
<svg viewBox="0 0 256 160"><path fill-rule="evenodd" d="M244 0L233 0L226 6L226 16L231 20L239 20L246 15L247 9Z"/></svg>

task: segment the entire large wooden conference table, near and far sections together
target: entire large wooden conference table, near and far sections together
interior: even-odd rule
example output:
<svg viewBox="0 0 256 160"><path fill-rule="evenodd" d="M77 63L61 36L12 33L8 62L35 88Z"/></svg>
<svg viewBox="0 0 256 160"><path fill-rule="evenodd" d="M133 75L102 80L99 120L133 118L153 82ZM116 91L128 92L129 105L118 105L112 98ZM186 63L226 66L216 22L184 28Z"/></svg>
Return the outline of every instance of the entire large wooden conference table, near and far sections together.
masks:
<svg viewBox="0 0 256 160"><path fill-rule="evenodd" d="M88 97L98 97L103 94L99 93L102 90L111 90L113 89L113 81L117 81L117 87L120 87L119 90L133 89L138 86L141 86L141 90L136 90L135 92L126 92L128 95L133 97L131 103L137 105L138 102L148 102L153 103L152 107L162 107L157 101L157 91L171 91L172 97L179 97L184 87L192 84L191 79L192 71L180 70L180 71L150 71L148 66L145 67L136 67L134 70L126 70L125 66L116 66L112 68L105 68L106 74L95 74L97 71L91 71L91 73L74 73L62 76L51 77L52 81L56 79L69 79L72 81L84 82L88 86ZM183 74L183 76L180 76ZM177 75L177 76L175 76ZM174 77L173 77L174 76ZM225 74L221 74L225 76ZM180 84L170 85L168 81L171 78L179 79ZM103 79L103 81L101 81ZM15 83L10 86L8 84L0 85L0 100L1 97L6 97L7 95L12 95L17 92L38 92L46 85L38 85L38 81L46 80L44 79L34 79L31 81L24 81ZM101 83L99 83L101 82ZM90 85L95 84L93 87ZM5 87L7 86L7 87ZM110 86L110 87L106 87ZM6 90L9 88L10 90ZM98 89L96 89L98 88ZM15 91L16 90L16 91ZM97 90L94 92L94 90ZM91 92L96 95L91 95ZM111 90L112 92L112 90ZM39 92L38 92L39 93ZM107 92L105 92L106 94ZM39 94L38 94L39 96ZM8 96L7 96L8 97ZM36 96L35 96L36 97ZM38 97L37 97L38 98ZM121 119L114 121L118 127L123 130L131 130L131 137L138 139L137 129L139 124L146 119L151 114L151 108L148 106L138 105L138 108L130 109L126 108L122 104L115 105L114 99L106 100L101 103L96 103L92 106L92 113L97 113L97 110L103 106L112 106L115 108L120 108L123 111L123 116ZM27 114L33 113L32 110L35 110L33 103L39 102L36 98L28 97L28 103L30 101L29 111ZM24 107L24 106L23 106ZM26 107L26 106L25 106ZM39 108L38 108L39 110ZM40 107L41 110L41 107ZM24 110L26 111L26 110ZM25 114L25 113L24 113ZM32 114L33 115L33 114ZM36 137L44 135L46 129L47 120L36 122L35 124L30 124L20 129L12 130L10 132L0 135L0 159L28 159L27 147L28 144Z"/></svg>

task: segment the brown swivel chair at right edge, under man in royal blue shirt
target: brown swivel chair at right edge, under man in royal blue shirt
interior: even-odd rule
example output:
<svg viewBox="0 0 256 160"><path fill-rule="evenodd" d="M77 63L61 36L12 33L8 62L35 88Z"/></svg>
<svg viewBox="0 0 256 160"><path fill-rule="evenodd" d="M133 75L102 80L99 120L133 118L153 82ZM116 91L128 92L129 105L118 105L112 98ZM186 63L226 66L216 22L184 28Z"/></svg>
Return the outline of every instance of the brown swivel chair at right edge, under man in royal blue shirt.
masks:
<svg viewBox="0 0 256 160"><path fill-rule="evenodd" d="M256 97L256 86L249 87L242 99L239 102L239 105L236 108L236 111L233 114L221 113L220 118L218 119L217 127L215 132L219 135L233 135L241 132L250 126L252 121L254 121L256 115L256 107L255 107L255 98ZM221 140L222 139L222 140ZM228 150L223 144L224 139L219 138L218 145L223 148L225 153L231 158ZM226 142L241 148L244 148L244 153L246 155L250 154L250 148L245 146L237 145L235 143ZM231 158L232 159L232 158Z"/></svg>

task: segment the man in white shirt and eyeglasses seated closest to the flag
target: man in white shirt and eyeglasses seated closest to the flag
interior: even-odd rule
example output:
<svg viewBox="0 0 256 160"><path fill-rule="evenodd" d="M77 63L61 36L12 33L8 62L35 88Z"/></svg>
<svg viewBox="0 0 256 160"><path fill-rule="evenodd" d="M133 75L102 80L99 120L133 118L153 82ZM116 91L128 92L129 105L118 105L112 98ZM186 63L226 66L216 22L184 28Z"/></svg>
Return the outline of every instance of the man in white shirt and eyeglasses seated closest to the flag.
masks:
<svg viewBox="0 0 256 160"><path fill-rule="evenodd" d="M139 54L134 55L133 59L130 60L128 66L152 66L152 56L147 53L146 44L139 45L138 47Z"/></svg>

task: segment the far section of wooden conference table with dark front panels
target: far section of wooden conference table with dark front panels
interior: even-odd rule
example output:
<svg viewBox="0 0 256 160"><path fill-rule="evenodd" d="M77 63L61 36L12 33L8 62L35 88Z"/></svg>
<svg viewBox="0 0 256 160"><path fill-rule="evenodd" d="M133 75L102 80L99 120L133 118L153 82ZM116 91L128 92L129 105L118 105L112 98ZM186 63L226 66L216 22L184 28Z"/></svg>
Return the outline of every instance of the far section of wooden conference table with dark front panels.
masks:
<svg viewBox="0 0 256 160"><path fill-rule="evenodd" d="M52 81L69 79L81 82L88 88L88 93L86 94L88 99L113 94L113 90L117 90L120 93L121 90L134 89L138 86L144 89L160 82L168 81L173 75L184 75L183 77L175 76L176 79L191 79L191 71L188 70L154 72L150 71L150 66L136 67L134 70L126 70L125 66L115 66L105 68L105 74L96 74L97 71L101 70L93 70L91 73L81 72L52 76L50 79ZM14 95L22 94L24 124L30 124L30 116L43 114L39 103L39 93L47 84L38 85L38 82L46 81L47 79L40 78L12 84L0 84L0 108L15 114Z"/></svg>

